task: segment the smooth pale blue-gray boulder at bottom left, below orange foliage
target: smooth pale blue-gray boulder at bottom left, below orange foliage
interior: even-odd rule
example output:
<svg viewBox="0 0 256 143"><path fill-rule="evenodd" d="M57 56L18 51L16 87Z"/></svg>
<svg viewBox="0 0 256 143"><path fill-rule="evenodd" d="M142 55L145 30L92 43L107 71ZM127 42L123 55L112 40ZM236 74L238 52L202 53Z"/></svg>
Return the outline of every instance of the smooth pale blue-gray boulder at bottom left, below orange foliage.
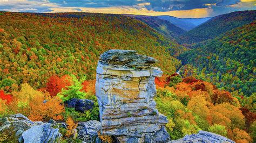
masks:
<svg viewBox="0 0 256 143"><path fill-rule="evenodd" d="M22 133L24 142L58 142L61 137L59 129L52 128L49 123L32 126Z"/></svg>

